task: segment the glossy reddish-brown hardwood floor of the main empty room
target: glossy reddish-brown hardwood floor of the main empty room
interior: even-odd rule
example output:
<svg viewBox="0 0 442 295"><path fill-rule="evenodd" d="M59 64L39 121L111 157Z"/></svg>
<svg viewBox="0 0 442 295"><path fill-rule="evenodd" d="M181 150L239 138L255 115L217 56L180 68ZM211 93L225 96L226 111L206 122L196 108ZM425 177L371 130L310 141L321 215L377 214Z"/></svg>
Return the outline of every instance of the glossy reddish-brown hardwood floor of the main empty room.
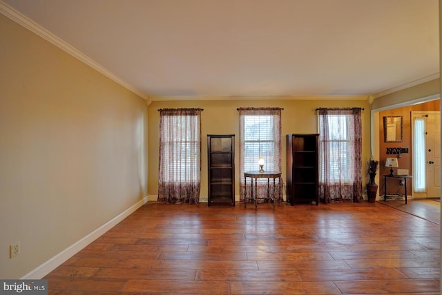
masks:
<svg viewBox="0 0 442 295"><path fill-rule="evenodd" d="M49 294L439 294L440 225L381 203L148 202Z"/></svg>

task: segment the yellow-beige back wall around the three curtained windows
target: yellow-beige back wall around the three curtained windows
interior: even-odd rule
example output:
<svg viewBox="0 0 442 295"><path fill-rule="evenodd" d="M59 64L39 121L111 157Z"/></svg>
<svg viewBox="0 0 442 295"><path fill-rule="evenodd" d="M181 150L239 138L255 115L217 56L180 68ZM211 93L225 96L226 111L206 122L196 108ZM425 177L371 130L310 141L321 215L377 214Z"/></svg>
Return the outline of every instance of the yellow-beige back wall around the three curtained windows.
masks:
<svg viewBox="0 0 442 295"><path fill-rule="evenodd" d="M235 134L236 135L236 195L239 195L239 112L236 108L245 106L278 106L282 111L282 175L285 180L285 135L288 133L317 133L316 108L319 107L362 107L363 128L363 159L370 156L370 111L367 100L352 100L336 97L336 100L318 99L247 99L247 100L188 100L154 101L148 107L148 142L149 142L149 167L148 167L148 194L150 200L155 200L158 191L158 144L160 131L160 114L158 108L204 108L202 112L202 171L201 171L201 197L207 196L207 134ZM365 175L363 165L363 175ZM367 179L368 180L368 179Z"/></svg>

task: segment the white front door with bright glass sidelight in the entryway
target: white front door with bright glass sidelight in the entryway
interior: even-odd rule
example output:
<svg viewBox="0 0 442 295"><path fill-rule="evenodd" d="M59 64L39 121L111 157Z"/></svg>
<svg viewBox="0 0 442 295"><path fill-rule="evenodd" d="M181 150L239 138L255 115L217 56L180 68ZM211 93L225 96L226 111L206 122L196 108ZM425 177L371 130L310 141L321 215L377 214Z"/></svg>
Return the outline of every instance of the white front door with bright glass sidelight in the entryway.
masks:
<svg viewBox="0 0 442 295"><path fill-rule="evenodd" d="M441 114L412 112L413 196L441 196Z"/></svg>

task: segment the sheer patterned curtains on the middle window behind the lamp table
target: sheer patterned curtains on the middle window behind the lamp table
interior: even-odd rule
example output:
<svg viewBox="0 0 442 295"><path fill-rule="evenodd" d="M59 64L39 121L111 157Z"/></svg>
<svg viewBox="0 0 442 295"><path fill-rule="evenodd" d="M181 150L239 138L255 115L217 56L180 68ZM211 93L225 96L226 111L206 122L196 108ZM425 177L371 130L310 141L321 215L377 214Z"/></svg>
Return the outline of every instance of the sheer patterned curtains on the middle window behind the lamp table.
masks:
<svg viewBox="0 0 442 295"><path fill-rule="evenodd" d="M243 201L244 190L249 198L251 189L250 182L244 187L244 171L258 171L260 157L264 158L265 171L281 171L281 108L239 108L239 111L240 200ZM267 178L258 178L257 189L258 196L267 196ZM279 196L279 189L277 182L276 196ZM272 180L269 191L273 195Z"/></svg>

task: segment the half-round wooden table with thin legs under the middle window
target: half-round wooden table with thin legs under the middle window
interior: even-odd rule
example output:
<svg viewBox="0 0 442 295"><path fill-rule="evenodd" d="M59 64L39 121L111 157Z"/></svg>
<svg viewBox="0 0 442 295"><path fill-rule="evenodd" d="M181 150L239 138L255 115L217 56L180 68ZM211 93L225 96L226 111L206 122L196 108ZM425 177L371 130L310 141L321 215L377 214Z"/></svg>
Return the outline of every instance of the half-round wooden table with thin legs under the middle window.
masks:
<svg viewBox="0 0 442 295"><path fill-rule="evenodd" d="M259 198L260 200L272 200L273 210L276 206L276 179L278 178L279 193L278 193L278 206L281 204L282 198L282 178L281 173L276 171L250 171L244 172L244 208L247 207L247 178L251 178L250 198L255 203L255 210L258 209L258 178L267 178L267 196ZM270 178L273 178L273 198L270 196ZM253 189L253 179L255 180L255 187ZM254 191L254 194L253 194Z"/></svg>

